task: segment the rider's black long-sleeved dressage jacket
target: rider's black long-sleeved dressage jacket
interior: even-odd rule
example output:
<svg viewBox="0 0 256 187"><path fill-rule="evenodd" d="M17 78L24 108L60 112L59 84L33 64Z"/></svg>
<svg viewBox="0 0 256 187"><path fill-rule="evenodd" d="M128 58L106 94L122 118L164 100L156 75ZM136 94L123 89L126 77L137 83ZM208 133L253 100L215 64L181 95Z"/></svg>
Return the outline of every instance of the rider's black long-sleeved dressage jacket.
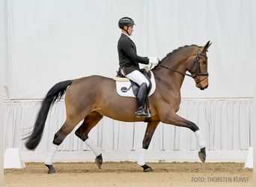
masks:
<svg viewBox="0 0 256 187"><path fill-rule="evenodd" d="M137 55L135 43L126 35L121 34L118 40L119 70L127 75L134 70L139 70L138 63L148 64L147 57Z"/></svg>

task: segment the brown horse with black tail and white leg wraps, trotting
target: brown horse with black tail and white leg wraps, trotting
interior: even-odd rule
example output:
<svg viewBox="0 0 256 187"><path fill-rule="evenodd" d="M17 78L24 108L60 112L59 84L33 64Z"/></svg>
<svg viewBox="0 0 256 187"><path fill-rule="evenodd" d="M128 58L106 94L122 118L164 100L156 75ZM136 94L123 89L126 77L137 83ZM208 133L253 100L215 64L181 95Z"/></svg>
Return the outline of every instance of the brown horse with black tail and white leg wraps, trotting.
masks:
<svg viewBox="0 0 256 187"><path fill-rule="evenodd" d="M144 155L160 122L191 129L198 140L199 159L201 162L205 162L206 143L203 135L195 123L180 117L177 111L181 101L180 88L185 76L192 77L196 87L201 90L208 87L207 49L210 45L211 42L208 41L204 46L192 44L177 48L162 58L162 61L159 61L159 64L152 69L156 82L156 90L148 98L152 116L150 120L147 119L142 150L137 162L144 172L153 171L149 165L145 164ZM146 120L144 117L136 117L137 101L135 98L119 96L116 93L115 80L112 78L93 75L58 82L43 99L34 128L31 134L25 138L25 147L28 150L35 150L40 143L49 109L64 94L66 120L55 133L44 162L49 174L56 172L52 160L58 146L80 121L83 120L75 134L91 148L96 156L95 162L101 168L103 164L102 152L91 141L88 134L103 116L125 122Z"/></svg>

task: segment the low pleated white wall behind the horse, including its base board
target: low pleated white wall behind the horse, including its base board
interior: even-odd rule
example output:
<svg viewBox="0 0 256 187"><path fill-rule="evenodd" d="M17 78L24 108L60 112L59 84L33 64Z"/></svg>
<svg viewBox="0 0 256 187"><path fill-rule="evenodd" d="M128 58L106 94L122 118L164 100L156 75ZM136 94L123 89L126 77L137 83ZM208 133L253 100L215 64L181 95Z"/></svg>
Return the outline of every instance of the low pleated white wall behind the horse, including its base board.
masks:
<svg viewBox="0 0 256 187"><path fill-rule="evenodd" d="M28 135L40 107L37 101L4 102L4 147L17 147L25 161L43 161L48 145L65 120L64 101L52 106L40 145L27 151L22 138ZM252 146L252 98L244 99L183 99L182 117L198 124L207 141L208 162L245 162L246 150ZM79 125L78 125L79 126ZM78 127L77 126L77 127ZM103 118L89 136L103 150L109 161L135 161L141 150L146 123L124 123ZM93 161L94 155L74 134L67 136L56 160ZM199 161L199 149L190 129L160 123L147 153L151 161ZM79 152L76 152L79 151Z"/></svg>

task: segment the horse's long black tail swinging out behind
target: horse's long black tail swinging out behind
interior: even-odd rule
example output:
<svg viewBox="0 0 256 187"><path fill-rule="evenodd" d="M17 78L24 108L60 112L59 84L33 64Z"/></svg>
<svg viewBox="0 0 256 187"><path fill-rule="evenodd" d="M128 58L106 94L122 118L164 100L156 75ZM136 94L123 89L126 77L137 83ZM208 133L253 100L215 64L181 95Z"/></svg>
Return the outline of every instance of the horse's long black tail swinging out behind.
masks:
<svg viewBox="0 0 256 187"><path fill-rule="evenodd" d="M37 114L37 120L34 123L33 132L31 132L31 135L27 137L28 140L25 142L25 147L27 147L28 150L34 150L35 148L37 148L37 145L40 143L43 135L43 129L46 123L49 108L51 107L51 105L53 105L56 99L61 99L61 96L64 95L67 87L71 84L72 81L58 82L46 94L46 97L43 99L40 111Z"/></svg>

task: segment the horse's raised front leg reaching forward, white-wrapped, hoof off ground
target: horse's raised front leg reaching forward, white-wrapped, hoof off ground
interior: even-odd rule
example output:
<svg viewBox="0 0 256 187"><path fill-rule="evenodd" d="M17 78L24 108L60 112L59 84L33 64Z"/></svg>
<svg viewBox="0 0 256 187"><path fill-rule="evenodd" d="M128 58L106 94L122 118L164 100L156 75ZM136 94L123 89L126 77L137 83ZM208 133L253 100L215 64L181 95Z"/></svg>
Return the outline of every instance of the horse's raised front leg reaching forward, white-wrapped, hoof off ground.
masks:
<svg viewBox="0 0 256 187"><path fill-rule="evenodd" d="M200 132L198 126L195 123L193 123L189 120L186 120L183 117L180 117L176 113L165 115L165 117L160 117L160 119L161 119L162 123L168 123L168 124L172 124L174 126L183 126L183 127L191 129L195 133L195 137L198 139L198 144L200 147L200 151L198 152L198 157L199 157L199 159L201 159L201 162L205 162L206 144L205 144L204 138L201 135L201 132Z"/></svg>

